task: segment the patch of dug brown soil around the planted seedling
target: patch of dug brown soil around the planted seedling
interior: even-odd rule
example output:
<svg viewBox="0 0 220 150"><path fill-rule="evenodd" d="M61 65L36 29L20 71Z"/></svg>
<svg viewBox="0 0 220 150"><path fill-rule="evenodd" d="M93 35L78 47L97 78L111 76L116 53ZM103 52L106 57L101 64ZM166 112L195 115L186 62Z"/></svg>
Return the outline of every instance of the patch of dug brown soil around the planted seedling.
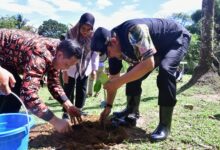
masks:
<svg viewBox="0 0 220 150"><path fill-rule="evenodd" d="M72 126L73 132L68 134L57 133L50 124L38 125L30 132L29 147L56 150L112 149L124 140L137 142L146 138L146 132L137 127L114 128L108 121L103 128L98 117L84 117L83 123Z"/></svg>

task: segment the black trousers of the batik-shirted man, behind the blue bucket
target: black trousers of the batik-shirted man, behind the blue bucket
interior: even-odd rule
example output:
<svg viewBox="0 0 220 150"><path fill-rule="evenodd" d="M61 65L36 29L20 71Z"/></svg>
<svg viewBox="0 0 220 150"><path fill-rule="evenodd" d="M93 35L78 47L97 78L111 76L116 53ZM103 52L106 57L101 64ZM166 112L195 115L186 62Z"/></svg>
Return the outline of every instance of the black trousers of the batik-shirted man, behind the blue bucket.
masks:
<svg viewBox="0 0 220 150"><path fill-rule="evenodd" d="M20 96L21 78L15 70L8 70L11 72L16 80L15 87L12 88L12 92ZM21 103L12 94L0 95L0 113L16 113L19 112Z"/></svg>

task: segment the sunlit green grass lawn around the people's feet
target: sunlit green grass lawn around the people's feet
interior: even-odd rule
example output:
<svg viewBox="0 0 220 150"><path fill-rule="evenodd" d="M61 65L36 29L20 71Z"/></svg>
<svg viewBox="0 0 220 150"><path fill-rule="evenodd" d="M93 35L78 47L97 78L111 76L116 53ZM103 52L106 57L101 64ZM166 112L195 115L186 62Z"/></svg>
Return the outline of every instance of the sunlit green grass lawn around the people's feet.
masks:
<svg viewBox="0 0 220 150"><path fill-rule="evenodd" d="M143 84L140 104L141 117L137 127L149 135L158 124L157 105L157 73L152 73ZM184 75L183 81L177 86L185 84L190 75ZM113 111L119 111L126 106L125 87L119 89ZM220 89L220 88L219 88ZM134 89L135 90L135 89ZM124 141L113 146L112 149L220 149L220 91L213 90L212 85L194 86L177 96L178 103L174 110L172 133L169 138L160 143L150 143L148 138L136 142ZM103 90L98 97L88 98L84 110L89 114L99 115L102 109L100 101L104 99ZM39 93L44 102L59 117L62 111L56 100L49 100L47 88ZM35 117L36 124L43 121Z"/></svg>

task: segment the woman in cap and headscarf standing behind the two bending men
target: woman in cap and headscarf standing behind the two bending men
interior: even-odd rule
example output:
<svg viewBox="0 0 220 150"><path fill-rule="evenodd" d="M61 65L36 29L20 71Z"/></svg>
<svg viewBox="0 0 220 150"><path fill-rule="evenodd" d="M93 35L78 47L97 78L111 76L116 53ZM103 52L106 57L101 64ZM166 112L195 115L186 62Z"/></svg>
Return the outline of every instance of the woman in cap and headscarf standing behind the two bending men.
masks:
<svg viewBox="0 0 220 150"><path fill-rule="evenodd" d="M99 54L90 48L93 35L95 18L90 13L84 13L79 22L71 28L66 35L67 39L76 40L82 48L82 57L77 65L63 71L64 91L75 106L82 109L86 100L88 76L96 76L99 64ZM76 92L74 94L74 90ZM63 119L68 119L68 114L63 114Z"/></svg>

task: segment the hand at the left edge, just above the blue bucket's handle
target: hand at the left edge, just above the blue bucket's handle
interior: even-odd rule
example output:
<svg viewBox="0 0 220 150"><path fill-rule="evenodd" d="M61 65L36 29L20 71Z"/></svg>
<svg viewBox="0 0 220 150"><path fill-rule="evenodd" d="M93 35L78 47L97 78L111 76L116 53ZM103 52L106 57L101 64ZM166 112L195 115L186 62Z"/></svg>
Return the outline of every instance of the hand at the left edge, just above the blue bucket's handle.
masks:
<svg viewBox="0 0 220 150"><path fill-rule="evenodd" d="M6 95L11 93L11 87L14 87L16 81L14 76L6 69L0 67L0 91Z"/></svg>

